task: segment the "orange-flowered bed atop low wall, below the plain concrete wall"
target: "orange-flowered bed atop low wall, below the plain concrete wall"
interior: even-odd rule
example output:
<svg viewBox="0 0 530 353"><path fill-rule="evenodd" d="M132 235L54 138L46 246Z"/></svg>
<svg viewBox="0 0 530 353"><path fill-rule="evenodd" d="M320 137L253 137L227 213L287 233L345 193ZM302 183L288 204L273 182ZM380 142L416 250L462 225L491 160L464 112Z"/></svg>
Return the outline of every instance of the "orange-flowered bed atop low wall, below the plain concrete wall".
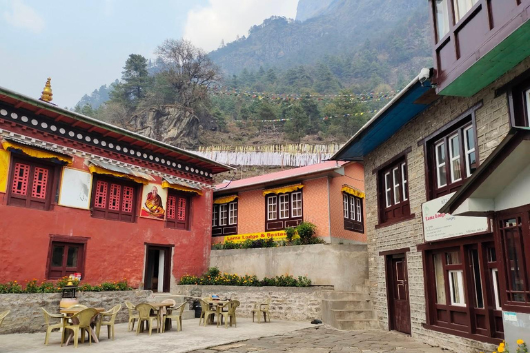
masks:
<svg viewBox="0 0 530 353"><path fill-rule="evenodd" d="M260 281L255 275L245 274L244 276L238 276L237 274L221 273L218 268L210 268L208 272L200 277L189 274L181 276L179 284L242 285L246 287L309 287L311 285L311 279L308 279L307 276L298 276L298 278L295 278L285 274L270 279L265 277Z"/></svg>

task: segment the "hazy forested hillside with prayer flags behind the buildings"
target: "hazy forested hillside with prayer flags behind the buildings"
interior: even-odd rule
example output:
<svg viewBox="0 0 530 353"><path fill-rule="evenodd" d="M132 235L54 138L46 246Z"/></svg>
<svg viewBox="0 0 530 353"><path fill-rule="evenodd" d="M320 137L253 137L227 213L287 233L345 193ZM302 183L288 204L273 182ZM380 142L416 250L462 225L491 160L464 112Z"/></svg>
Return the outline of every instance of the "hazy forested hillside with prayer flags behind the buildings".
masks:
<svg viewBox="0 0 530 353"><path fill-rule="evenodd" d="M153 61L131 54L121 80L75 109L184 148L341 143L431 66L424 0L300 0L297 10L209 54L180 42L189 67L164 57L167 43ZM205 59L210 71L194 76Z"/></svg>

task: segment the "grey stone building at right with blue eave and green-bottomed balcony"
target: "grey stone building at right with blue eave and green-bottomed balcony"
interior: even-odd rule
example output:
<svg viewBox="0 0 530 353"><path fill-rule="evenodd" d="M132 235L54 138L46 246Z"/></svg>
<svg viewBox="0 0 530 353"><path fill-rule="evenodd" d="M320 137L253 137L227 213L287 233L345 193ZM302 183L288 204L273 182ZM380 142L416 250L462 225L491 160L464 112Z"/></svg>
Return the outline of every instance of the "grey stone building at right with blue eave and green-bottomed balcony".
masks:
<svg viewBox="0 0 530 353"><path fill-rule="evenodd" d="M457 202L455 192L511 129L529 126L530 1L430 0L429 10L434 68L333 159L364 161L380 327L458 352L491 352L511 312L530 313L528 223L509 223L521 232L503 243L495 210L469 207L472 218L440 210L462 207L469 194Z"/></svg>

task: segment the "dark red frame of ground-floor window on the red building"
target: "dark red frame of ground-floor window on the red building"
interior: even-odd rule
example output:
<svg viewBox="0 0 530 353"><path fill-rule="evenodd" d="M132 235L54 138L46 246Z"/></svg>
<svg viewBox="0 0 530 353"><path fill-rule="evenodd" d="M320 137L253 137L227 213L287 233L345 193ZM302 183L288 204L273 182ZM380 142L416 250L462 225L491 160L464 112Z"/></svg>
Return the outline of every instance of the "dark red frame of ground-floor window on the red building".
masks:
<svg viewBox="0 0 530 353"><path fill-rule="evenodd" d="M84 274L85 258L86 258L86 241L87 238L77 239L77 236L51 236L50 246L48 250L48 261L46 265L47 279L61 279L63 276L68 276L76 272ZM63 247L63 259L61 266L53 266L53 252L56 247ZM68 250L70 248L77 248L77 264L73 267L68 267Z"/></svg>

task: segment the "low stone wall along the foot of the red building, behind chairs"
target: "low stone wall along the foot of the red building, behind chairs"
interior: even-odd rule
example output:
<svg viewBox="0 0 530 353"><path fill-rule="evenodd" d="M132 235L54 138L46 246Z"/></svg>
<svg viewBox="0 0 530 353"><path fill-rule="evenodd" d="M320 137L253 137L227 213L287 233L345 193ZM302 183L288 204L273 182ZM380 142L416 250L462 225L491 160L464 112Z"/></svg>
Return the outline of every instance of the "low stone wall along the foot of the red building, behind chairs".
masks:
<svg viewBox="0 0 530 353"><path fill-rule="evenodd" d="M104 307L108 310L121 304L121 310L116 317L117 323L128 321L126 301L136 305L153 300L153 292L150 290L81 292L76 296L79 304L88 307ZM46 331L41 307L52 314L59 314L59 301L61 301L60 293L0 294L0 312L11 310L0 327L0 334Z"/></svg>

